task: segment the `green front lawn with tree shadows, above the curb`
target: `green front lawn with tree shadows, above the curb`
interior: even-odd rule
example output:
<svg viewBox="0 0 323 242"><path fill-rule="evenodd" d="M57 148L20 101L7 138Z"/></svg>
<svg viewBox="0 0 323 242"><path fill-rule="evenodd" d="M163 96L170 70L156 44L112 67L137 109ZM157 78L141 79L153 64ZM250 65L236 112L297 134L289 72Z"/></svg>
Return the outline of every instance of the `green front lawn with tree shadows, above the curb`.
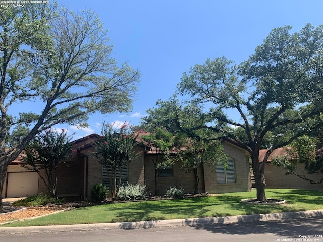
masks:
<svg viewBox="0 0 323 242"><path fill-rule="evenodd" d="M226 193L218 196L145 202L128 202L73 209L42 218L3 226L64 225L106 222L133 222L196 217L232 216L323 209L323 191L266 189L267 198L287 200L284 205L249 205L256 191Z"/></svg>

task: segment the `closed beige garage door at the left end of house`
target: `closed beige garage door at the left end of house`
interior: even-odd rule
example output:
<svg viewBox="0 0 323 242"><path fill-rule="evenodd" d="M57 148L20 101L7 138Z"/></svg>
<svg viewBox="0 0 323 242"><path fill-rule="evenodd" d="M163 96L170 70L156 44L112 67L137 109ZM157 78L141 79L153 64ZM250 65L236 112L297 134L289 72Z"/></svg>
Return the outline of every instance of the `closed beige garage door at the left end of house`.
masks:
<svg viewBox="0 0 323 242"><path fill-rule="evenodd" d="M36 172L8 173L7 198L37 195L38 177Z"/></svg>

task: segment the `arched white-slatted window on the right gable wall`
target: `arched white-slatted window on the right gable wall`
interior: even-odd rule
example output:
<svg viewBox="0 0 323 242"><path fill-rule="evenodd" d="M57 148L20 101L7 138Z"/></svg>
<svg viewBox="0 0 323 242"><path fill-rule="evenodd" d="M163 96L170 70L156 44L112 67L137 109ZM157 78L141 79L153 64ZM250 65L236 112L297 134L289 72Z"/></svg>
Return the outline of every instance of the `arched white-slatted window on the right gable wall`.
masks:
<svg viewBox="0 0 323 242"><path fill-rule="evenodd" d="M229 157L228 167L223 167L224 162L219 162L216 165L217 183L227 184L236 183L236 171L234 168L234 159Z"/></svg>

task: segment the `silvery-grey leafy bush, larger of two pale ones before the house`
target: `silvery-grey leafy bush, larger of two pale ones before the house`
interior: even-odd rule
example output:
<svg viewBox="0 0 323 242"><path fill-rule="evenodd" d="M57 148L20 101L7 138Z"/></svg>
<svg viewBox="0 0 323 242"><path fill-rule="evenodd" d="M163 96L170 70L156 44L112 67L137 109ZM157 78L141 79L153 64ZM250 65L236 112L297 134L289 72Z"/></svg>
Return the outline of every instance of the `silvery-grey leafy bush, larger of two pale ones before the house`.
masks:
<svg viewBox="0 0 323 242"><path fill-rule="evenodd" d="M121 186L117 198L120 200L138 200L147 198L146 185L129 184Z"/></svg>

